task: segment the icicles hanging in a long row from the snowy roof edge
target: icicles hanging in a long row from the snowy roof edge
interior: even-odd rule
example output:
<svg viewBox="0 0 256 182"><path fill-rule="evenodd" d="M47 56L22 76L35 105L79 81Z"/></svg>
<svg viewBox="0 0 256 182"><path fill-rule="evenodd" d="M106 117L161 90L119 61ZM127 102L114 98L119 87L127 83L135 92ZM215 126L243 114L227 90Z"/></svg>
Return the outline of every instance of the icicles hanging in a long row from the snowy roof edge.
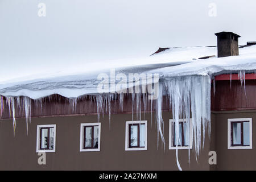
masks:
<svg viewBox="0 0 256 182"><path fill-rule="evenodd" d="M243 72L239 75L244 78ZM242 80L241 80L242 81ZM188 126L187 136L192 137L192 148L197 156L200 154L201 146L204 146L205 133L208 130L210 134L210 76L184 76L184 77L172 77L162 78L159 80L159 96L156 100L148 100L147 94L144 93L131 93L131 103L133 113L136 111L137 120L141 120L142 104L146 109L151 106L151 118L152 109L155 110L155 123L158 130L158 141L162 142L162 146L165 149L165 139L163 135L164 122L162 118L162 102L163 96L167 96L170 101L170 108L172 108L172 116L175 122L176 141L179 141L179 119L183 118ZM100 114L106 112L109 113L109 120L111 114L111 101L115 100L118 96L119 106L123 109L123 94L96 94L86 96L89 97L92 102L97 103L98 121L100 121ZM85 97L85 96L82 96ZM69 105L73 107L73 111L76 110L77 101L82 100L82 97L67 98ZM142 101L141 101L142 98ZM26 115L26 123L31 121L31 99L28 97L6 97L7 105L9 106L10 117L13 113L13 127L15 133L16 121L15 121L15 104L19 106L20 110L23 109ZM42 99L35 100L36 105L42 106ZM1 96L1 113L3 111L3 97ZM154 107L154 108L152 108ZM132 114L134 115L134 114ZM134 119L134 118L133 118ZM152 119L151 119L152 120ZM151 122L152 123L152 122ZM203 129L203 145L201 145L201 130ZM190 134L192 132L192 134ZM189 142L189 148L191 143ZM158 142L159 146L159 142ZM190 150L188 155L190 156ZM190 160L190 157L189 157ZM181 170L176 147L176 161L177 167Z"/></svg>

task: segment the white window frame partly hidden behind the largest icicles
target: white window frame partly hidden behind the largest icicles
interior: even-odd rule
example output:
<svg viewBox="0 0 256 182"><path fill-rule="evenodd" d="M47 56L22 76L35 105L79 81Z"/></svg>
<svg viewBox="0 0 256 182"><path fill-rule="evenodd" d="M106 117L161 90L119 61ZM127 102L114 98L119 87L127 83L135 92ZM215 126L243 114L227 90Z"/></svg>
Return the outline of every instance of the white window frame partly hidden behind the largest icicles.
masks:
<svg viewBox="0 0 256 182"><path fill-rule="evenodd" d="M174 119L169 119L169 150L176 150L176 146L172 146L172 124ZM186 119L179 119L179 122L186 122ZM191 119L190 119L191 123ZM192 125L190 124L190 136L189 136L189 146L177 146L177 149L192 149Z"/></svg>

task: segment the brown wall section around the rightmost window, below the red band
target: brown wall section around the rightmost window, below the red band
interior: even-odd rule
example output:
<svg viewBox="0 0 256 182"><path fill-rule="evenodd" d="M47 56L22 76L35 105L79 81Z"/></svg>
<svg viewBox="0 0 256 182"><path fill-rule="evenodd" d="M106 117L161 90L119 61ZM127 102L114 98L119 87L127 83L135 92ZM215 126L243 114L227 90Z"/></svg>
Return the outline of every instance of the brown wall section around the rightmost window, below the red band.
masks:
<svg viewBox="0 0 256 182"><path fill-rule="evenodd" d="M228 150L228 118L252 118L253 149ZM256 170L256 110L215 114L217 170Z"/></svg>

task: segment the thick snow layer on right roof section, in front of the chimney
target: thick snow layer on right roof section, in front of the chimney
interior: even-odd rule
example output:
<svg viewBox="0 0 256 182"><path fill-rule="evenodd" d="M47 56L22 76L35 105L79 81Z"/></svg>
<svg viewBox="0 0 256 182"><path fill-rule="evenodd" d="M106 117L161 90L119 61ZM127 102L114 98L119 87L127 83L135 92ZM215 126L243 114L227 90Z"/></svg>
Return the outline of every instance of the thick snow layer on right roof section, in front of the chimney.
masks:
<svg viewBox="0 0 256 182"><path fill-rule="evenodd" d="M239 56L212 57L193 61L175 67L159 68L154 72L162 73L163 77L189 75L218 75L222 73L254 71L256 69L256 46L240 48Z"/></svg>

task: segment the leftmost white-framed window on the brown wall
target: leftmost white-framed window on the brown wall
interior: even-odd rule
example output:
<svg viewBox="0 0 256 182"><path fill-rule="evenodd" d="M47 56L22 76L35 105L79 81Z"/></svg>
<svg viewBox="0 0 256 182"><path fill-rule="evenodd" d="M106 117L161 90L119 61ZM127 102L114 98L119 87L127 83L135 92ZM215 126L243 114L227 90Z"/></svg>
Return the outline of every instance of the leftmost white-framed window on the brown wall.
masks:
<svg viewBox="0 0 256 182"><path fill-rule="evenodd" d="M36 152L55 152L56 125L38 125Z"/></svg>

